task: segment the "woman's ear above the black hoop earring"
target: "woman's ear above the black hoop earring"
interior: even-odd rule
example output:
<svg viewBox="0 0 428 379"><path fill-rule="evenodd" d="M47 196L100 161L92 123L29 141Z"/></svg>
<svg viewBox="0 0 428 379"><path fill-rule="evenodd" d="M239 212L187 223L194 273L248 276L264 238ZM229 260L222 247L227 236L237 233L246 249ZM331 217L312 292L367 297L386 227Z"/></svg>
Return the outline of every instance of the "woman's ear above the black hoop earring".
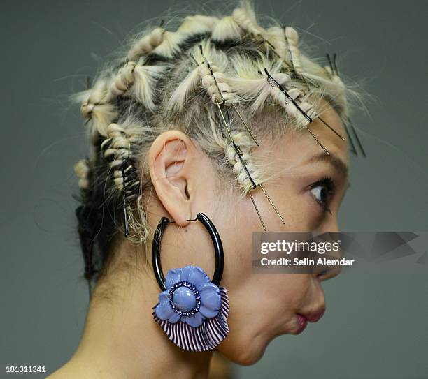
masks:
<svg viewBox="0 0 428 379"><path fill-rule="evenodd" d="M150 177L157 197L180 226L187 225L187 219L192 218L199 154L192 140L180 131L159 135L148 153Z"/></svg>

